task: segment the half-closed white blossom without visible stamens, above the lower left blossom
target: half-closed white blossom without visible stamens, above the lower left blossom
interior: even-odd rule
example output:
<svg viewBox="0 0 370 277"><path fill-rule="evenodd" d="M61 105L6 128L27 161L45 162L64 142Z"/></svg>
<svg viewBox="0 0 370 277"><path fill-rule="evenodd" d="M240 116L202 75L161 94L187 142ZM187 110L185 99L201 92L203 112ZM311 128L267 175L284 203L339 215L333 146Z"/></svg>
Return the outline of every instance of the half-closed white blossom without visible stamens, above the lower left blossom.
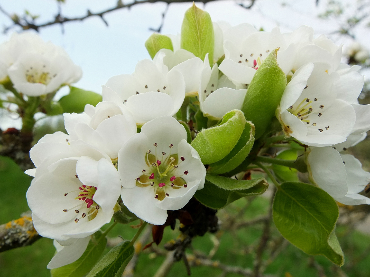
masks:
<svg viewBox="0 0 370 277"><path fill-rule="evenodd" d="M116 95L105 94L96 107L87 104L82 114L64 113L64 124L71 140L81 139L110 158L118 157L118 151L129 137L136 134L137 127L131 113Z"/></svg>

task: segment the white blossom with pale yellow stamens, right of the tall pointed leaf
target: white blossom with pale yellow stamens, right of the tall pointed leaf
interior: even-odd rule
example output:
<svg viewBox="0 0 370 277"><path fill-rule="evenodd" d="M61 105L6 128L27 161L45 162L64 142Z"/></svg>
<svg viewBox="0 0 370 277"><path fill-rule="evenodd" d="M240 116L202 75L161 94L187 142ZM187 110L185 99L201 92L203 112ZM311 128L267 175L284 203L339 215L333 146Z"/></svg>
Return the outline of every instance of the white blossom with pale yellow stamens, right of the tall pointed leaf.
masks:
<svg viewBox="0 0 370 277"><path fill-rule="evenodd" d="M278 118L283 131L308 146L342 143L356 121L353 106L337 98L333 84L339 74L330 73L330 67L315 62L299 68L280 101Z"/></svg>

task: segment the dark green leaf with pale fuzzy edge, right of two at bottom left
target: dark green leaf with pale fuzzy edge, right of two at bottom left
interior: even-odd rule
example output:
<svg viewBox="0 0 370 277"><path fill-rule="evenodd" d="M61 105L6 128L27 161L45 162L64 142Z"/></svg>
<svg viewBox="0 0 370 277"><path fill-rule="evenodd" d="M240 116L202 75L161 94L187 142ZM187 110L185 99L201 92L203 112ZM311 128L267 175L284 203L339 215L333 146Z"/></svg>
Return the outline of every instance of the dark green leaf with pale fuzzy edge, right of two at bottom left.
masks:
<svg viewBox="0 0 370 277"><path fill-rule="evenodd" d="M134 251L130 241L121 242L102 257L87 277L121 277Z"/></svg>

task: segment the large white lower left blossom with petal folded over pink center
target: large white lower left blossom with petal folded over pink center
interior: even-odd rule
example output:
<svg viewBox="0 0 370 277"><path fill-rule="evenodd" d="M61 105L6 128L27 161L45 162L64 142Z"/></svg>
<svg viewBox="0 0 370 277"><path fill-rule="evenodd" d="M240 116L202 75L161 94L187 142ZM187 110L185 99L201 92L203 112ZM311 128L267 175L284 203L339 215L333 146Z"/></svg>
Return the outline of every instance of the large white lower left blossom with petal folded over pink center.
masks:
<svg viewBox="0 0 370 277"><path fill-rule="evenodd" d="M121 191L111 158L62 132L47 134L31 148L36 169L27 191L37 232L60 241L84 238L109 223Z"/></svg>

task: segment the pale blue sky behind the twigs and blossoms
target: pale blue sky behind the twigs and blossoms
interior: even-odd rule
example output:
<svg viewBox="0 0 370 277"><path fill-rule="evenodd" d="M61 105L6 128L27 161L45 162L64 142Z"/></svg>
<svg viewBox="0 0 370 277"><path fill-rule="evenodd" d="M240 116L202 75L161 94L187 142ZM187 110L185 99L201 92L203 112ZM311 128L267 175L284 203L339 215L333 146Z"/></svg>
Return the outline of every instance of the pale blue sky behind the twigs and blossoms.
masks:
<svg viewBox="0 0 370 277"><path fill-rule="evenodd" d="M101 11L114 6L117 0L67 0L61 4L65 16L81 16L86 9ZM213 21L225 20L232 25L247 22L265 30L279 25L282 31L291 31L306 24L314 28L316 34L330 34L337 30L336 20L322 20L317 14L326 7L326 0L321 0L319 7L314 0L257 0L251 10L246 10L235 1L215 1L203 6ZM57 13L54 0L0 0L1 6L9 13L23 13L27 8L33 14L39 14L39 22L51 18ZM131 10L122 9L105 16L109 27L99 17L92 17L83 22L64 24L65 33L61 27L54 25L40 30L41 37L62 46L71 56L74 63L80 65L84 76L76 84L84 89L101 92L101 85L108 78L122 73L132 73L137 61L149 58L144 47L145 40L151 35L149 27L157 28L161 14L165 9L164 3L143 4L134 6ZM191 3L171 4L165 18L162 33L179 33L182 17ZM0 25L9 24L9 20L0 14ZM368 32L369 30L367 30ZM359 32L361 33L361 32ZM9 38L0 35L0 42ZM369 40L369 35L360 35ZM333 37L336 42L348 44L348 39Z"/></svg>

